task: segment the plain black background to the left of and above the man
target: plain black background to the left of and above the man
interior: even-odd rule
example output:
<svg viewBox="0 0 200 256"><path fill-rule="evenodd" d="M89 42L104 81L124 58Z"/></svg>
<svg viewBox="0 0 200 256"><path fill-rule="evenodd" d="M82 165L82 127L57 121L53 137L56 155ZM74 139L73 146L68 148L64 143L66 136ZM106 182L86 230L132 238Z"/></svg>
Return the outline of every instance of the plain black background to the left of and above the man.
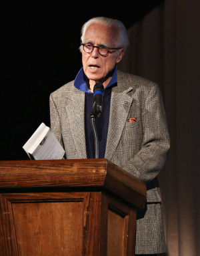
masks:
<svg viewBox="0 0 200 256"><path fill-rule="evenodd" d="M0 160L22 160L22 149L49 121L49 94L81 68L80 29L96 16L121 20L127 29L163 1L8 2L1 5ZM86 5L86 6L85 6Z"/></svg>

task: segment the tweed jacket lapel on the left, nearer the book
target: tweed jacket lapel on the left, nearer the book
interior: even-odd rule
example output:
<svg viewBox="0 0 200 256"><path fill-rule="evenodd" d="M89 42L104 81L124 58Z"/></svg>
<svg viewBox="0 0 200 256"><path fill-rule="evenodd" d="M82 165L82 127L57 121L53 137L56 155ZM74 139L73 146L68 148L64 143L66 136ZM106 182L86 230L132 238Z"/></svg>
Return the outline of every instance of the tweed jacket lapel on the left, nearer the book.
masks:
<svg viewBox="0 0 200 256"><path fill-rule="evenodd" d="M87 158L85 143L85 93L75 90L70 94L67 109L71 134L79 158Z"/></svg>

